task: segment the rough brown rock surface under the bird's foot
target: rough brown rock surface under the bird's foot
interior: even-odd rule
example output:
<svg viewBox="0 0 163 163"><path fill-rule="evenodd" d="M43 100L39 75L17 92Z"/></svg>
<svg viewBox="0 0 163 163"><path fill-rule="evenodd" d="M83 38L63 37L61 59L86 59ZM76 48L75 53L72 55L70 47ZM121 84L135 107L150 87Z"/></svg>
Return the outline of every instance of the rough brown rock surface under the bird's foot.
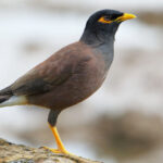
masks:
<svg viewBox="0 0 163 163"><path fill-rule="evenodd" d="M54 154L45 148L30 148L0 139L0 163L100 163L76 155Z"/></svg>

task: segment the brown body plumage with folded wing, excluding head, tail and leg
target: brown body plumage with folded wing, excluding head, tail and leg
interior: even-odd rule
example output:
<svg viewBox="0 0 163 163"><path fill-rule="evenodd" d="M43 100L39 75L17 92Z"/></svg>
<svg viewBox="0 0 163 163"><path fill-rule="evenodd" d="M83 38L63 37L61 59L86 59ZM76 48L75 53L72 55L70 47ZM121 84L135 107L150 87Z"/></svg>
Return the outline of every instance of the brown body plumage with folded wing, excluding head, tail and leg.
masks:
<svg viewBox="0 0 163 163"><path fill-rule="evenodd" d="M26 96L28 104L63 110L92 95L106 73L100 51L78 41L70 45L17 79L15 96Z"/></svg>

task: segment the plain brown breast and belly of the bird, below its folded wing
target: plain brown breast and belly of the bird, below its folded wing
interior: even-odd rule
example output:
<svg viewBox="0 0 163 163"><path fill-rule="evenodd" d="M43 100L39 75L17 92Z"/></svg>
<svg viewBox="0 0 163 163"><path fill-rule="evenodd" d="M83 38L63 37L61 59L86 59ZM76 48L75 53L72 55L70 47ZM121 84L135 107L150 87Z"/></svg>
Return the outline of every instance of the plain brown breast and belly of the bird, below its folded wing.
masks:
<svg viewBox="0 0 163 163"><path fill-rule="evenodd" d="M33 97L33 104L63 110L90 97L102 85L111 62L99 52L88 50L84 54L77 57L80 59L66 82L43 95Z"/></svg>

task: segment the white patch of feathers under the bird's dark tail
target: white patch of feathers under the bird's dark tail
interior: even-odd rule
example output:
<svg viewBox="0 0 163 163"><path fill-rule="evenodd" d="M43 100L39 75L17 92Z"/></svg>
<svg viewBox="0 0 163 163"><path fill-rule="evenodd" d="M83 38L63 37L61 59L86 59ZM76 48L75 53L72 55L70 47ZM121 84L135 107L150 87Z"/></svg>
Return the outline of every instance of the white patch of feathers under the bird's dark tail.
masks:
<svg viewBox="0 0 163 163"><path fill-rule="evenodd" d="M27 104L25 96L13 96L8 101L0 103L0 108Z"/></svg>

